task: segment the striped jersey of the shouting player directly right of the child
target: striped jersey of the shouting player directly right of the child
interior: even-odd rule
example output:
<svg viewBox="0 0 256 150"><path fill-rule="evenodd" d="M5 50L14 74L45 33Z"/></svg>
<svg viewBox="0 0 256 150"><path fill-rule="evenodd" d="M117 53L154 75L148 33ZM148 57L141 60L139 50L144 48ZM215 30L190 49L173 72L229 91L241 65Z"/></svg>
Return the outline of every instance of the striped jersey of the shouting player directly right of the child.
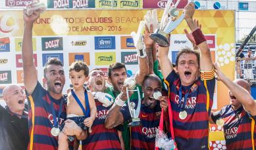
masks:
<svg viewBox="0 0 256 150"><path fill-rule="evenodd" d="M104 107L101 102L95 102L97 115L91 126L91 134L82 141L82 149L122 149L116 128L105 128L107 111L111 108Z"/></svg>

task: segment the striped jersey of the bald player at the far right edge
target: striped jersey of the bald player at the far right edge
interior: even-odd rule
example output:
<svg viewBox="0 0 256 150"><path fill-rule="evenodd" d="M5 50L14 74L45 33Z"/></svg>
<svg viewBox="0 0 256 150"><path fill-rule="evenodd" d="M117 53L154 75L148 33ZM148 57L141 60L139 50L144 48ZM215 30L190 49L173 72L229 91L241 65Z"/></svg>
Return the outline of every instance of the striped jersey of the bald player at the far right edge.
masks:
<svg viewBox="0 0 256 150"><path fill-rule="evenodd" d="M232 105L225 105L220 110L220 119L224 120L224 136L227 149L253 149L256 145L256 139L252 140L251 127L252 121L256 116L249 115L243 106L237 110L232 109ZM256 137L256 126L253 126L253 137ZM253 142L253 143L252 143Z"/></svg>

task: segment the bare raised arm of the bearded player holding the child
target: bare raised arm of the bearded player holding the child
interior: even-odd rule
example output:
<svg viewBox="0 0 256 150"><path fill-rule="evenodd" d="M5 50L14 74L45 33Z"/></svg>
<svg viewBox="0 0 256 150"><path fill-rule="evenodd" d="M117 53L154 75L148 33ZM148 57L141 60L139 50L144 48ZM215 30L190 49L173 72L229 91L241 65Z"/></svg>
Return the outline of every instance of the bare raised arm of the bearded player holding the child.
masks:
<svg viewBox="0 0 256 150"><path fill-rule="evenodd" d="M34 14L28 16L26 11L23 12L24 33L22 39L22 64L24 71L24 85L28 94L32 94L38 82L38 72L34 65L32 28L34 21L39 18L40 10L34 11Z"/></svg>

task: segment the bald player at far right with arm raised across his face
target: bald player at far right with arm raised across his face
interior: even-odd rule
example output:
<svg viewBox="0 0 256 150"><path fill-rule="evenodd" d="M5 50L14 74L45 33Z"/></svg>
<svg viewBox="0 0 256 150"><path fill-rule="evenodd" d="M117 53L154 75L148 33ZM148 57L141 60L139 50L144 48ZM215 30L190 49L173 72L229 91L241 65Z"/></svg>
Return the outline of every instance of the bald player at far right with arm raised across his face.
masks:
<svg viewBox="0 0 256 150"><path fill-rule="evenodd" d="M223 126L227 149L255 149L256 102L251 97L251 86L243 79L232 82L215 64L218 79L229 91L230 105L211 114L211 122Z"/></svg>

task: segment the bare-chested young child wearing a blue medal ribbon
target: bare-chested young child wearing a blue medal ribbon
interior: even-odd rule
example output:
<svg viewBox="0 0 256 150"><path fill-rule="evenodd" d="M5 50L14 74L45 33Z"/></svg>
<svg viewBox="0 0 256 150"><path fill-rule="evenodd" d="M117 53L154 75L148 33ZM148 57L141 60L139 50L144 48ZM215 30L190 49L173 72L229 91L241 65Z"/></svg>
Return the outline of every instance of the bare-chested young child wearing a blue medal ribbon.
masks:
<svg viewBox="0 0 256 150"><path fill-rule="evenodd" d="M97 113L93 95L84 88L88 74L89 69L84 62L73 62L69 67L73 88L68 92L66 119L75 121L82 129L91 127ZM68 136L63 132L59 134L59 149L68 149Z"/></svg>

